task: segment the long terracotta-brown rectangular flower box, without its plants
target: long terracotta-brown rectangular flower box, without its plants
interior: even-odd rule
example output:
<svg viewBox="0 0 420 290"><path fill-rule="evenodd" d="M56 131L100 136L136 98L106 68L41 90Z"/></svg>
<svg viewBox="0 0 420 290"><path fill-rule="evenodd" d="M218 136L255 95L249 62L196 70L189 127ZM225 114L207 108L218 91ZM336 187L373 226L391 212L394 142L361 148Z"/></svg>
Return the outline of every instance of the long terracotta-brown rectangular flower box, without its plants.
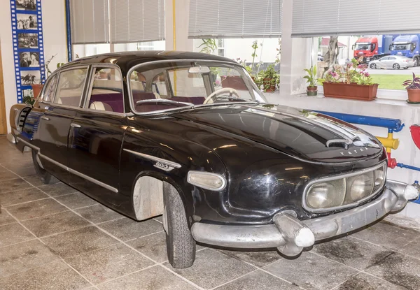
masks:
<svg viewBox="0 0 420 290"><path fill-rule="evenodd" d="M324 96L329 98L373 101L377 98L378 84L357 85L344 82L324 82Z"/></svg>

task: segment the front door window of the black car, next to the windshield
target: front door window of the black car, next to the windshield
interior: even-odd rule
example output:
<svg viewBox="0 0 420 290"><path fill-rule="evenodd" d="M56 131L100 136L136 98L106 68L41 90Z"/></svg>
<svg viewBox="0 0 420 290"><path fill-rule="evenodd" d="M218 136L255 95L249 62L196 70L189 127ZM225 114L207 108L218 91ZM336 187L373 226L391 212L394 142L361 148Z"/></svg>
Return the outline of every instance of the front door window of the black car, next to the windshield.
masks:
<svg viewBox="0 0 420 290"><path fill-rule="evenodd" d="M85 108L124 113L123 78L117 68L94 68L92 89Z"/></svg>

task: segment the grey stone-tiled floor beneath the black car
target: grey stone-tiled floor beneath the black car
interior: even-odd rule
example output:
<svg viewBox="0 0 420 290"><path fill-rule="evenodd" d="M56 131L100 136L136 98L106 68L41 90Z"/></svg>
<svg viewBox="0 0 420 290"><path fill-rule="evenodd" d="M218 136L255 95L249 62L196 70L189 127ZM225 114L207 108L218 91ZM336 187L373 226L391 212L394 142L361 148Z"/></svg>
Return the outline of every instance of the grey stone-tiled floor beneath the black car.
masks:
<svg viewBox="0 0 420 290"><path fill-rule="evenodd" d="M160 217L134 222L65 184L42 184L30 154L4 136L0 152L2 290L420 289L414 223L386 219L297 259L199 246L193 267L174 269Z"/></svg>

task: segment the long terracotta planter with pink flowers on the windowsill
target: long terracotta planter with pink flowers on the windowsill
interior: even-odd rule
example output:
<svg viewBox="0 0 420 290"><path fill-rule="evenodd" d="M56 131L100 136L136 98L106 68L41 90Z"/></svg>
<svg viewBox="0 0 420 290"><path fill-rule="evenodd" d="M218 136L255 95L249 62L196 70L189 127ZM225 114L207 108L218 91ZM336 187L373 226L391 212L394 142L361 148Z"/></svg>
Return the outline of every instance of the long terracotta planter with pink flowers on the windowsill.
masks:
<svg viewBox="0 0 420 290"><path fill-rule="evenodd" d="M378 84L366 71L366 64L359 64L353 59L346 66L335 66L334 71L328 71L323 82L324 96L330 98L373 101L376 99Z"/></svg>

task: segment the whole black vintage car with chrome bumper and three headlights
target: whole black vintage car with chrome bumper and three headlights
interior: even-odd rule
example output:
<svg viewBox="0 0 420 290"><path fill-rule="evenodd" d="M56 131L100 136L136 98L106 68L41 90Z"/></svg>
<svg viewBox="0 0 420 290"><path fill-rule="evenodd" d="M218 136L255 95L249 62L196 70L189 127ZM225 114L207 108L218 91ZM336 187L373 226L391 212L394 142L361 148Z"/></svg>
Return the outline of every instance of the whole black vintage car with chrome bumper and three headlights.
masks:
<svg viewBox="0 0 420 290"><path fill-rule="evenodd" d="M72 61L33 108L11 108L19 150L138 221L163 214L169 261L195 242L300 254L401 210L419 192L386 180L386 151L338 119L267 103L235 61L125 52Z"/></svg>

